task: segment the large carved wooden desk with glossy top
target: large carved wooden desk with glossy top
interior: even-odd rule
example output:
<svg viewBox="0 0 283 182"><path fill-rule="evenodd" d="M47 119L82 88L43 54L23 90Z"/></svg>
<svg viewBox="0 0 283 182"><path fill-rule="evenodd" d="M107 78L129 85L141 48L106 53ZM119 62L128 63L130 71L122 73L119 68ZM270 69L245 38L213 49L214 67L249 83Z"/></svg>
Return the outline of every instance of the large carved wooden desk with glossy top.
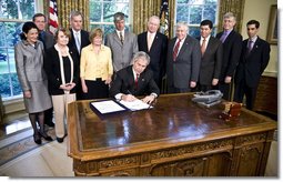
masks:
<svg viewBox="0 0 283 182"><path fill-rule="evenodd" d="M161 95L154 109L101 120L89 101L69 104L68 154L75 175L264 175L276 122L242 109L219 119L191 94Z"/></svg>

